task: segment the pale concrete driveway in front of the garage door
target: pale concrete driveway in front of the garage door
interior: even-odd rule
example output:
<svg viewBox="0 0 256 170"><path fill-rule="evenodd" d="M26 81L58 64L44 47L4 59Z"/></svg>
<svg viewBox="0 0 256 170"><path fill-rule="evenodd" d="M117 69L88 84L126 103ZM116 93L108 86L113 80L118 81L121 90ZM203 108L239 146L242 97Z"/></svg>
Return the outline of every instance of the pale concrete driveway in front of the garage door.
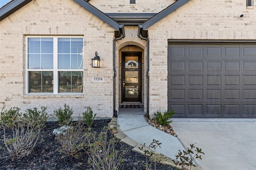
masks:
<svg viewBox="0 0 256 170"><path fill-rule="evenodd" d="M196 160L204 170L256 170L256 119L173 119L171 125L184 147L205 153Z"/></svg>

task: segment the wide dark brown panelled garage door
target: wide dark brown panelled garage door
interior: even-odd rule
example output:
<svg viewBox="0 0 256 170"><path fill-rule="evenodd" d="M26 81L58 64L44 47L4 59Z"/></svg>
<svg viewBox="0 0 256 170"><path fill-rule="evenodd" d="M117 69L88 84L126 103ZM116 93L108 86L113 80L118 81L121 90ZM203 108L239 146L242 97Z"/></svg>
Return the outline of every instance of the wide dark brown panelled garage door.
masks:
<svg viewBox="0 0 256 170"><path fill-rule="evenodd" d="M255 118L256 43L169 43L174 117Z"/></svg>

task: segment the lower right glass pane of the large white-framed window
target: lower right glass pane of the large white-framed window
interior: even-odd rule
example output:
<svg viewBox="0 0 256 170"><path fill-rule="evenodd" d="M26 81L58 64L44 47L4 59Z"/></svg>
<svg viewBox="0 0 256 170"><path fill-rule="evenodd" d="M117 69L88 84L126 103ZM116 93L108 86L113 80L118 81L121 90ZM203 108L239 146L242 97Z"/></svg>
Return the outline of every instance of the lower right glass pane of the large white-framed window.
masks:
<svg viewBox="0 0 256 170"><path fill-rule="evenodd" d="M83 92L83 72L82 71L60 71L59 72L59 92Z"/></svg>

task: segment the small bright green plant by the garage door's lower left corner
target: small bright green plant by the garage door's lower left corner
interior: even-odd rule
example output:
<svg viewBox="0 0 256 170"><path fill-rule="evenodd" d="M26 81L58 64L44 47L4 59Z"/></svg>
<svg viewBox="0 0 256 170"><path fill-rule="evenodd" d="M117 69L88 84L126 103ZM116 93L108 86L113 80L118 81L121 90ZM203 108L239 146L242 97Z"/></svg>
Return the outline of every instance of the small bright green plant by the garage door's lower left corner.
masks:
<svg viewBox="0 0 256 170"><path fill-rule="evenodd" d="M172 120L168 120L172 117L172 115L175 114L175 111L172 110L172 111L164 111L164 115L162 115L161 111L157 111L156 113L154 113L155 117L154 117L154 120L156 121L156 123L158 123L159 125L162 125L162 126L166 126L168 125L169 123L172 123Z"/></svg>

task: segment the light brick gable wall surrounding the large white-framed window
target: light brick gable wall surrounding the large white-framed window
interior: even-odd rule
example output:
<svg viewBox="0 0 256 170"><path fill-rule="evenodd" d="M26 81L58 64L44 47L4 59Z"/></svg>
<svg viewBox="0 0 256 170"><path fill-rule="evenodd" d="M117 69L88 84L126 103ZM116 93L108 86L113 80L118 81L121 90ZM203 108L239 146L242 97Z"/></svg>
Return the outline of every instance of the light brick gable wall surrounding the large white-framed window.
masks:
<svg viewBox="0 0 256 170"><path fill-rule="evenodd" d="M84 38L84 94L26 94L26 36L80 35ZM74 116L92 107L101 117L113 115L113 37L114 29L84 10L72 0L36 0L0 22L0 108L48 106L54 109L68 104ZM100 68L92 68L95 51L101 57ZM104 82L92 82L103 76Z"/></svg>

